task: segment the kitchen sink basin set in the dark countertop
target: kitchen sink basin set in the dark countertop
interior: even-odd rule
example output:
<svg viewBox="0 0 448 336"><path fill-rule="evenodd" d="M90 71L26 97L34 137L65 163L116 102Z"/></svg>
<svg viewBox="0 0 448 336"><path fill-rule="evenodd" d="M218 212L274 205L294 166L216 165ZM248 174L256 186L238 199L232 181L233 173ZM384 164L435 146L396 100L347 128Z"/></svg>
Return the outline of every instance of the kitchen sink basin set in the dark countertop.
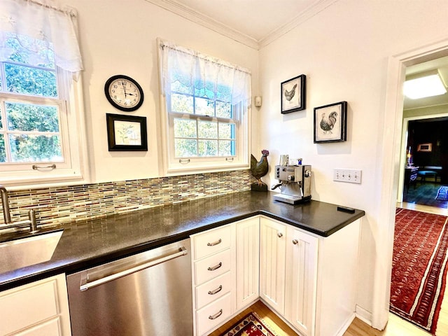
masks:
<svg viewBox="0 0 448 336"><path fill-rule="evenodd" d="M0 243L0 274L51 259L62 230Z"/></svg>

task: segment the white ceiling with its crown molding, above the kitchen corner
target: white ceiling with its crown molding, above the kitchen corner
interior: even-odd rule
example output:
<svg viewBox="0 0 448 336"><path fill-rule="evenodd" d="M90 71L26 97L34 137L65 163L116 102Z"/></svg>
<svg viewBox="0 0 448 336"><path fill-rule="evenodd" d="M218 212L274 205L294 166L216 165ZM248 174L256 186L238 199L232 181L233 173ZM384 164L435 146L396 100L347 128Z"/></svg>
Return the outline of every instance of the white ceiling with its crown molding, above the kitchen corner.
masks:
<svg viewBox="0 0 448 336"><path fill-rule="evenodd" d="M146 0L259 49L337 0Z"/></svg>

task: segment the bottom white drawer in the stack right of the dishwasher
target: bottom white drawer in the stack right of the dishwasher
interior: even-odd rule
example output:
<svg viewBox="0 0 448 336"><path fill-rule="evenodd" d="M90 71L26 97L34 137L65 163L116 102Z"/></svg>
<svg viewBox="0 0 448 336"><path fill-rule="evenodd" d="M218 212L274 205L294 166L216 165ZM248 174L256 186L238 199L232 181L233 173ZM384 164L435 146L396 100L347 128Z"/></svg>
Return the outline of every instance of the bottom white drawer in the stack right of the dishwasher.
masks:
<svg viewBox="0 0 448 336"><path fill-rule="evenodd" d="M205 332L225 321L231 314L232 299L228 293L196 312L197 334L204 335Z"/></svg>

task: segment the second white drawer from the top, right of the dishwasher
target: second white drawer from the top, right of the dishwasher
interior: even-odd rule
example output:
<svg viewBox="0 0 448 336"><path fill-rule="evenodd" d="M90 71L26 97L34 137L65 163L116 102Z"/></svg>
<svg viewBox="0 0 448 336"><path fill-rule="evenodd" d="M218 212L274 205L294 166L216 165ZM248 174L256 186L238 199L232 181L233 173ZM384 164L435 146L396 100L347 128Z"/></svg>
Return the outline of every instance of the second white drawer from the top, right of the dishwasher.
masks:
<svg viewBox="0 0 448 336"><path fill-rule="evenodd" d="M200 285L230 270L230 248L195 262L195 284Z"/></svg>

